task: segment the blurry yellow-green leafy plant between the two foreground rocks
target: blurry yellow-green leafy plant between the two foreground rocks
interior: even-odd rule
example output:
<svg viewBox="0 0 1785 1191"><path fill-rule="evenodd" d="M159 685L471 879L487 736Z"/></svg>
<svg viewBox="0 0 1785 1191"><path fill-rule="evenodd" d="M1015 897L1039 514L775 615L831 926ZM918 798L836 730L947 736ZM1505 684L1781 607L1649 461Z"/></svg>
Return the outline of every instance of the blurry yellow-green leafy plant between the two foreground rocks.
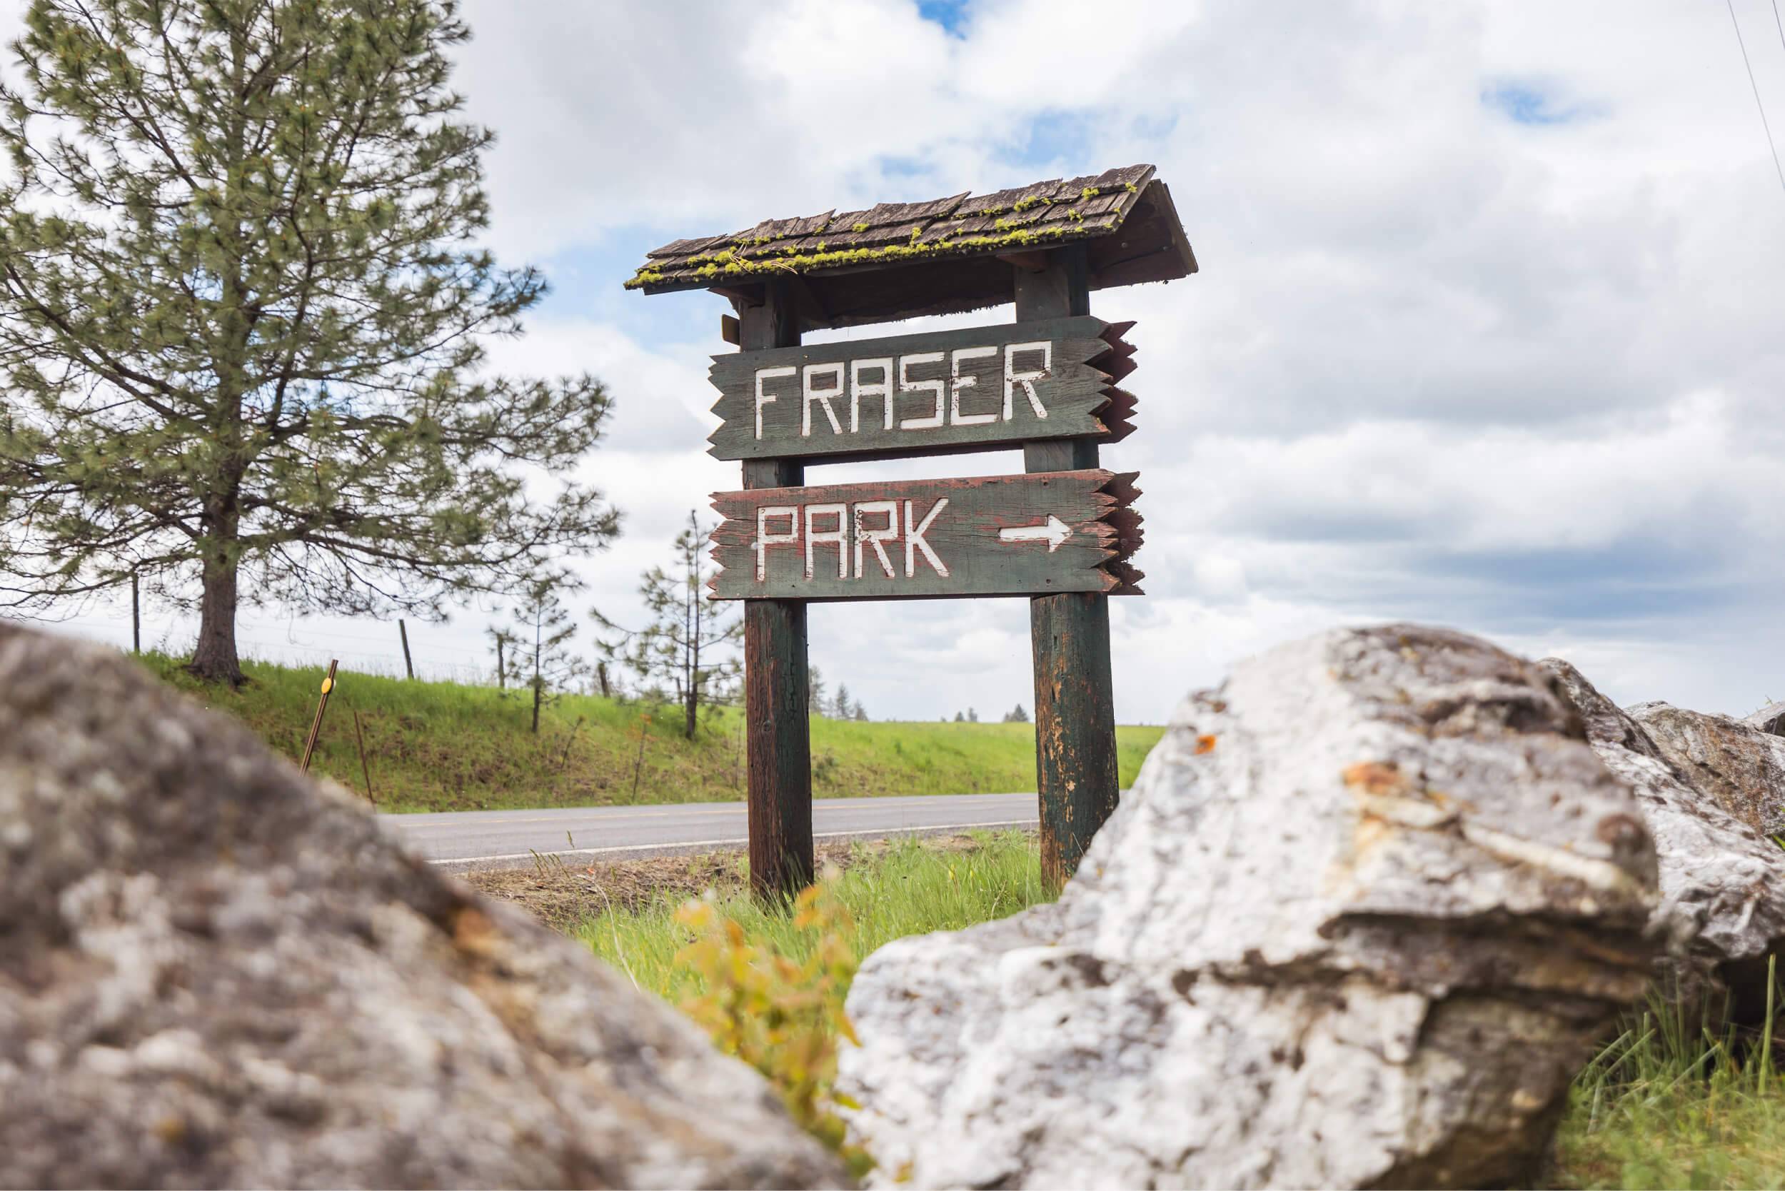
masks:
<svg viewBox="0 0 1785 1191"><path fill-rule="evenodd" d="M837 1114L857 1105L834 1087L839 1041L855 1043L843 1000L857 959L855 921L830 882L805 889L793 905L793 929L810 939L801 961L751 941L712 900L687 902L677 923L694 941L677 952L675 964L703 986L682 1000L682 1011L719 1050L775 1084L789 1116L835 1150L850 1173L866 1175L873 1159L848 1141Z"/></svg>

